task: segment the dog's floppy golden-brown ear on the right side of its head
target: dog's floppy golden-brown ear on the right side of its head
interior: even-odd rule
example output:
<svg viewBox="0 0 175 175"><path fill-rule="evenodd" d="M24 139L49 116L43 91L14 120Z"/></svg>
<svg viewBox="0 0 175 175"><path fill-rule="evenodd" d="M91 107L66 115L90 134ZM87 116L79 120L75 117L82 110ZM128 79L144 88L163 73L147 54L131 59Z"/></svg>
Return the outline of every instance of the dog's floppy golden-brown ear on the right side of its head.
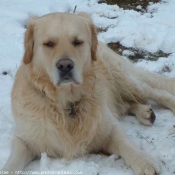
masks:
<svg viewBox="0 0 175 175"><path fill-rule="evenodd" d="M96 27L94 26L90 15L88 15L86 13L80 13L78 15L81 16L81 17L83 17L83 18L85 18L88 21L88 24L90 26L90 30L91 30L91 42L92 42L92 45L91 45L91 56L92 56L92 59L94 61L96 61L97 60L96 51L97 51L97 45L98 45Z"/></svg>

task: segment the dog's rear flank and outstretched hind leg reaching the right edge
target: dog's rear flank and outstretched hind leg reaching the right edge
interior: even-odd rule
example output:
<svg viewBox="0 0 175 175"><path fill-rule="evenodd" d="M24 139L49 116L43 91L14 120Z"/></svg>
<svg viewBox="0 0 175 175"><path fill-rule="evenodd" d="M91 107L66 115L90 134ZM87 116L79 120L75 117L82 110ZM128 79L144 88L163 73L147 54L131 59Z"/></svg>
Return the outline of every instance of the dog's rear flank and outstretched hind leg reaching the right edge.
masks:
<svg viewBox="0 0 175 175"><path fill-rule="evenodd" d="M99 45L99 57L114 78L115 87L122 97L133 102L152 99L175 114L175 78L143 71L104 44L99 42Z"/></svg>

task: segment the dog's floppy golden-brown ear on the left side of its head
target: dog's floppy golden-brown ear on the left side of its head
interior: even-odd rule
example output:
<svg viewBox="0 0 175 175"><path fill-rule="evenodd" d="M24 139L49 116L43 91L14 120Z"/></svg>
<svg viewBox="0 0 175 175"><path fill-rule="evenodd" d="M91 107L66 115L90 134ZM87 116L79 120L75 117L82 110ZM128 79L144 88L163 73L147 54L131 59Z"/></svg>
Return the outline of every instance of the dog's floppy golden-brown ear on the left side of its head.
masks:
<svg viewBox="0 0 175 175"><path fill-rule="evenodd" d="M23 62L24 64L29 64L32 61L33 57L33 46L34 46L34 26L36 19L38 17L32 17L27 25L27 31L25 32L24 38L24 56Z"/></svg>

